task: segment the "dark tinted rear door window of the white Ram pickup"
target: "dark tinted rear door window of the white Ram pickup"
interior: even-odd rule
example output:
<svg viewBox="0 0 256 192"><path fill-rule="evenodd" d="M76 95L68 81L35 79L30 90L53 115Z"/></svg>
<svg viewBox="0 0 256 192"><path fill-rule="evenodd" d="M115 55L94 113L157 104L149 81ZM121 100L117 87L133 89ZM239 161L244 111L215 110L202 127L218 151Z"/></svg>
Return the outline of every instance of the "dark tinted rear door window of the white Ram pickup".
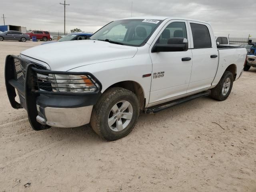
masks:
<svg viewBox="0 0 256 192"><path fill-rule="evenodd" d="M212 42L208 27L203 24L190 23L194 48L211 48Z"/></svg>

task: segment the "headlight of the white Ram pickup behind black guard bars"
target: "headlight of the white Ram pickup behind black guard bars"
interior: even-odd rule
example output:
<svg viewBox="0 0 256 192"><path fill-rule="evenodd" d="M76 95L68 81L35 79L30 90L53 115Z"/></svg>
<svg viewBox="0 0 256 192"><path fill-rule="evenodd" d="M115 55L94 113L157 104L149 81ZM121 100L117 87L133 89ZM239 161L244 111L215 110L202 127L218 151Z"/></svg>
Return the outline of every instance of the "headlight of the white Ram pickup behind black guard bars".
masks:
<svg viewBox="0 0 256 192"><path fill-rule="evenodd" d="M52 74L51 82L53 92L86 93L98 89L98 84L89 75Z"/></svg>

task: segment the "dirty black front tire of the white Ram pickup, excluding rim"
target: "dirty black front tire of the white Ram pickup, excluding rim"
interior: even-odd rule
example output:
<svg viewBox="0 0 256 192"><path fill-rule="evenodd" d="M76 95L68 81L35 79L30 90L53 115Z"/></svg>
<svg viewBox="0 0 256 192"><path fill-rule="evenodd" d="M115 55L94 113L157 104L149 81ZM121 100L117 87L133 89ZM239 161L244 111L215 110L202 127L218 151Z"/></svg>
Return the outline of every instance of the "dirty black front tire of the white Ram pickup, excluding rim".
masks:
<svg viewBox="0 0 256 192"><path fill-rule="evenodd" d="M108 118L111 114L112 107L121 101L128 101L132 106L132 118L126 128L120 131L114 131L108 126ZM125 137L132 131L139 114L140 104L137 96L133 92L119 87L110 88L102 94L97 104L94 105L90 124L96 134L106 140L114 141ZM116 120L114 124L116 124ZM125 122L126 120L122 119L122 121Z"/></svg>

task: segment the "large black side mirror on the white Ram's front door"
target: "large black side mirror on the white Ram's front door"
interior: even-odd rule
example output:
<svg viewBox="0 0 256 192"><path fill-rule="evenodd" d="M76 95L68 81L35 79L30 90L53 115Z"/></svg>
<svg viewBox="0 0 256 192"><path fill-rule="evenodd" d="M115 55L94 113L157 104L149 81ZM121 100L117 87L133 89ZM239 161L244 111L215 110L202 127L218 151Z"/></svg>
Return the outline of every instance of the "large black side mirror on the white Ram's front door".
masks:
<svg viewBox="0 0 256 192"><path fill-rule="evenodd" d="M187 51L188 50L188 40L186 38L170 38L167 44L156 43L151 52L177 52L177 51Z"/></svg>

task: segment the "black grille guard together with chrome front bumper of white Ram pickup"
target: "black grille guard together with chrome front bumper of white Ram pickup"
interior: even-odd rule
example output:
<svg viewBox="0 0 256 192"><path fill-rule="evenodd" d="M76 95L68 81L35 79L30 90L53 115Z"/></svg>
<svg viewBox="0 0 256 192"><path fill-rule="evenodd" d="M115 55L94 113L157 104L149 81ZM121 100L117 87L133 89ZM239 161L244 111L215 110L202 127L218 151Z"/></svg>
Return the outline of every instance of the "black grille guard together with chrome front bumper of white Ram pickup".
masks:
<svg viewBox="0 0 256 192"><path fill-rule="evenodd" d="M89 72L46 70L44 66L14 55L6 57L4 72L11 106L15 109L26 109L28 120L37 131L50 127L71 128L88 124L92 108L101 96L102 85ZM42 75L49 74L87 76L95 85L95 91L54 92L52 88L55 85L47 79L40 79Z"/></svg>

